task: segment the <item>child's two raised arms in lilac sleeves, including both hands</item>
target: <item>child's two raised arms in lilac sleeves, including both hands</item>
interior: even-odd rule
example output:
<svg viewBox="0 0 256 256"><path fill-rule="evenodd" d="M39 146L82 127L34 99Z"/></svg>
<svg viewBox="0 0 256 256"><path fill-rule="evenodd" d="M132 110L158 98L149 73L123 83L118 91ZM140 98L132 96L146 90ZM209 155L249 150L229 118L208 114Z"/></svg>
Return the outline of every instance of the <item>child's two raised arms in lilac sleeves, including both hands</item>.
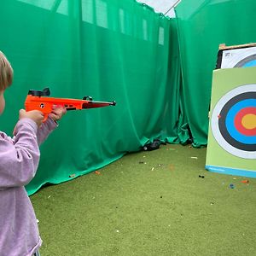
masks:
<svg viewBox="0 0 256 256"><path fill-rule="evenodd" d="M26 113L20 110L20 120L15 126L15 137L0 132L0 190L24 186L35 176L38 169L42 143L56 126L57 120L66 113L65 108L55 108L45 124L38 111ZM38 128L38 125L40 128Z"/></svg>

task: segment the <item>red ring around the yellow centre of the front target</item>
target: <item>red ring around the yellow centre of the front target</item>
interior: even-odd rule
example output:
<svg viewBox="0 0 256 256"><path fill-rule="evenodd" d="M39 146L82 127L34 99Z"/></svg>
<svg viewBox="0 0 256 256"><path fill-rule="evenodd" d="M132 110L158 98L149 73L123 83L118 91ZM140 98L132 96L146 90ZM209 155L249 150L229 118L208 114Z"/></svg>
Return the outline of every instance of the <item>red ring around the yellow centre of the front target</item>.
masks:
<svg viewBox="0 0 256 256"><path fill-rule="evenodd" d="M242 120L245 116L250 115L252 117L253 128L248 128L243 125ZM237 114L234 120L237 131L246 136L255 136L256 135L256 108L242 108Z"/></svg>

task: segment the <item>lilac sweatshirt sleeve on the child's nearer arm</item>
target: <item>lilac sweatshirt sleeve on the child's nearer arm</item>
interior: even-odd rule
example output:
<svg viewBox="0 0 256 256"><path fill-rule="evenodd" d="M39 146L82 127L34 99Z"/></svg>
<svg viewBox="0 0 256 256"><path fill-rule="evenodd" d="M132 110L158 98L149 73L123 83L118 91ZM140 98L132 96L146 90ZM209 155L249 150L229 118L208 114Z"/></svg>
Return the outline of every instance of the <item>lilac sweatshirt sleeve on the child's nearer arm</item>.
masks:
<svg viewBox="0 0 256 256"><path fill-rule="evenodd" d="M32 119L20 119L13 140L0 133L0 189L24 186L34 177L40 157L37 131Z"/></svg>

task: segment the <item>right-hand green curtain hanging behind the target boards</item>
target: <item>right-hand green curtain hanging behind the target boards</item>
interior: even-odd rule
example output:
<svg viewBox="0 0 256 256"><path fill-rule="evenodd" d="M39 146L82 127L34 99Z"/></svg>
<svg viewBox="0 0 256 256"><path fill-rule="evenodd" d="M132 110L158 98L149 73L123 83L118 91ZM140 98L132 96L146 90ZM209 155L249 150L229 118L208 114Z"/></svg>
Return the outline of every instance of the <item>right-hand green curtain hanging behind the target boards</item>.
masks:
<svg viewBox="0 0 256 256"><path fill-rule="evenodd" d="M255 0L182 0L177 5L184 133L207 144L208 111L218 45L256 42Z"/></svg>

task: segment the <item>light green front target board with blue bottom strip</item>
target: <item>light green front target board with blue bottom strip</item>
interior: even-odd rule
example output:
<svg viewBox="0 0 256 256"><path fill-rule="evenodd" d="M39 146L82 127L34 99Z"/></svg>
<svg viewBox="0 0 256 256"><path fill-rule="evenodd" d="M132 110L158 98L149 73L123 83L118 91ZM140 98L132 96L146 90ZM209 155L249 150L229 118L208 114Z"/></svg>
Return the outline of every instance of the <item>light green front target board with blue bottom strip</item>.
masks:
<svg viewBox="0 0 256 256"><path fill-rule="evenodd" d="M213 71L206 169L256 177L256 67Z"/></svg>

